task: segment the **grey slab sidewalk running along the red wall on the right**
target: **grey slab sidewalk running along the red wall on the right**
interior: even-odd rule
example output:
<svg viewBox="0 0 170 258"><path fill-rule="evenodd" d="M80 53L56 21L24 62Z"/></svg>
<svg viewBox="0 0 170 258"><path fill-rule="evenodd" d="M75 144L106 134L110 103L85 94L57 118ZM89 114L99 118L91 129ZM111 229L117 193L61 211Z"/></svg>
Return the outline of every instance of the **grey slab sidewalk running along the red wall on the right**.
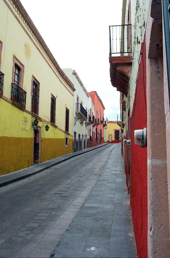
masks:
<svg viewBox="0 0 170 258"><path fill-rule="evenodd" d="M120 144L50 257L137 257Z"/></svg>

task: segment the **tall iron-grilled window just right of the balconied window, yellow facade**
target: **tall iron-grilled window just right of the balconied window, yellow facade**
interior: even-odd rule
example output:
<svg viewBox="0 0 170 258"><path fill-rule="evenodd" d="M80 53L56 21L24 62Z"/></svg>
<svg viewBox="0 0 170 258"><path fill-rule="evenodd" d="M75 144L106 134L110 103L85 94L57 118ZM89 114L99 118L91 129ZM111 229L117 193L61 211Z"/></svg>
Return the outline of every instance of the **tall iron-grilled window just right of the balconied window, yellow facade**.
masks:
<svg viewBox="0 0 170 258"><path fill-rule="evenodd" d="M32 77L32 103L31 103L31 112L38 115L38 108L39 108L39 91L40 91L40 84L39 82Z"/></svg>

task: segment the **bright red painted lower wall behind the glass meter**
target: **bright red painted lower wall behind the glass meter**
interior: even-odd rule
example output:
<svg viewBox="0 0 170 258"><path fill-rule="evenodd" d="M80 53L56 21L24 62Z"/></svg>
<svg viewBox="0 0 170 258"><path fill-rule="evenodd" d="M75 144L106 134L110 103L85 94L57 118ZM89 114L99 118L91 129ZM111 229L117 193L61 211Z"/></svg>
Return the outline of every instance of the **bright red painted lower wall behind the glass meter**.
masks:
<svg viewBox="0 0 170 258"><path fill-rule="evenodd" d="M142 45L135 100L130 118L131 188L130 204L138 257L147 257L147 148L134 144L134 130L147 127L146 49Z"/></svg>

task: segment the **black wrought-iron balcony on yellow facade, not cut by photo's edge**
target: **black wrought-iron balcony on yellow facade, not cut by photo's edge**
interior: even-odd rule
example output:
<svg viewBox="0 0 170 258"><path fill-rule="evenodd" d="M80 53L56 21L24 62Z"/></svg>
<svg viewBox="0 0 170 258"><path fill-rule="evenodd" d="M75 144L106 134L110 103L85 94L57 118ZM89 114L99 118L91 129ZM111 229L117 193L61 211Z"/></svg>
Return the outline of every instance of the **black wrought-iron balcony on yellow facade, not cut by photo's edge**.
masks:
<svg viewBox="0 0 170 258"><path fill-rule="evenodd" d="M20 86L15 83L12 83L11 86L12 104L24 110L26 106L26 91L20 88Z"/></svg>

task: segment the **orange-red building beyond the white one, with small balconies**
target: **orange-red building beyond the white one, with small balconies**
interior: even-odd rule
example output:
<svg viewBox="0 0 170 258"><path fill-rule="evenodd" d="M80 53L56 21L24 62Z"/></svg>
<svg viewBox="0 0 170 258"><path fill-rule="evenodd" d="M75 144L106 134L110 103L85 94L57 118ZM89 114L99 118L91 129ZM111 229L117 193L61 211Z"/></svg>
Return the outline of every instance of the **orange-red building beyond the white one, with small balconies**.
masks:
<svg viewBox="0 0 170 258"><path fill-rule="evenodd" d="M94 146L104 143L104 110L105 107L96 91L88 92L94 102Z"/></svg>

